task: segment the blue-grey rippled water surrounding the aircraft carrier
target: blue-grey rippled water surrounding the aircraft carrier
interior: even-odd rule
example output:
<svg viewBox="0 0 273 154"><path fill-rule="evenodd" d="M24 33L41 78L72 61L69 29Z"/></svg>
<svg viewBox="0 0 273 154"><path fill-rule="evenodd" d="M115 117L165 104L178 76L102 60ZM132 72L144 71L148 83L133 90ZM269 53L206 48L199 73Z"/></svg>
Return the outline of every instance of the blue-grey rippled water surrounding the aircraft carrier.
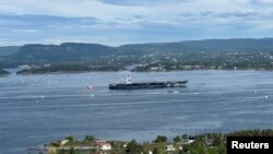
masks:
<svg viewBox="0 0 273 154"><path fill-rule="evenodd" d="M127 72L0 78L0 150L27 147L73 134L153 140L182 133L273 128L273 72L132 73L132 80L189 80L187 87L109 91ZM92 85L95 91L87 91Z"/></svg>

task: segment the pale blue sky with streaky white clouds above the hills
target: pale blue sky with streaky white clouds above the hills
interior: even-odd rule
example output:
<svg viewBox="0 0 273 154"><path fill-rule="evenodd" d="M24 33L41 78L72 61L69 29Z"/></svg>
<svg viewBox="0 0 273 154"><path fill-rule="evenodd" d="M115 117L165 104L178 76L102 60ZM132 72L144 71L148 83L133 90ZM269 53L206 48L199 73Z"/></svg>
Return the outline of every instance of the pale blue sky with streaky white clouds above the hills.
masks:
<svg viewBox="0 0 273 154"><path fill-rule="evenodd" d="M0 0L0 46L273 36L273 0Z"/></svg>

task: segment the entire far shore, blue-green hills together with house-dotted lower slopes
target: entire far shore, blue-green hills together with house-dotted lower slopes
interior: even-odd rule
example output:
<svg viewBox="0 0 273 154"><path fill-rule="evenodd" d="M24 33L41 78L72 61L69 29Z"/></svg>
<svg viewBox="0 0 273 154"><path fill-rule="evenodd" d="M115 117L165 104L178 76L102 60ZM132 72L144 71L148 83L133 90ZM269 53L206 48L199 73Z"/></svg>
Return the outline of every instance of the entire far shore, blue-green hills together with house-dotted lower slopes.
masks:
<svg viewBox="0 0 273 154"><path fill-rule="evenodd" d="M136 72L180 70L272 71L272 44L273 38L246 38L135 44L119 47L80 43L24 45L14 48L13 51L3 48L8 54L0 56L0 68L35 66L32 69L19 72L25 74L122 70L120 69L122 67L119 66L134 66L131 71ZM48 63L51 67L40 67Z"/></svg>

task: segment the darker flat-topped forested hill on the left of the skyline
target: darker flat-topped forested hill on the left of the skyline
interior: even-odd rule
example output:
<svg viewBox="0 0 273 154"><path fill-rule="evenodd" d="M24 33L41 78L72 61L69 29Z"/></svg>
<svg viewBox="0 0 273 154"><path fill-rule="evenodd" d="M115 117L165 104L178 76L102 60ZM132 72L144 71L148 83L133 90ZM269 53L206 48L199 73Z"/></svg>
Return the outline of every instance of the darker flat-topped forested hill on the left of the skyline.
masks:
<svg viewBox="0 0 273 154"><path fill-rule="evenodd" d="M117 49L99 44L64 43L61 45L24 45L12 55L17 60L64 60L114 55Z"/></svg>

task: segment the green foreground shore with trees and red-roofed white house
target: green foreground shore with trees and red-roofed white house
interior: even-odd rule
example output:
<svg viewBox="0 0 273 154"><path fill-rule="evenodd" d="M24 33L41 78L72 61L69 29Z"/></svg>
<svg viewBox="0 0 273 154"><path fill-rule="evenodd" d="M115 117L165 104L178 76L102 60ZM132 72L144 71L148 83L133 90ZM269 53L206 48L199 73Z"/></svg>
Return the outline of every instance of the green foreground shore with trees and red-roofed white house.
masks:
<svg viewBox="0 0 273 154"><path fill-rule="evenodd" d="M45 144L39 153L46 154L226 154L227 137L272 137L273 129L242 130L229 133L203 133L197 135L181 134L167 139L157 135L152 142L106 141L93 135L75 140L68 135L63 140ZM28 152L37 149L28 149Z"/></svg>

